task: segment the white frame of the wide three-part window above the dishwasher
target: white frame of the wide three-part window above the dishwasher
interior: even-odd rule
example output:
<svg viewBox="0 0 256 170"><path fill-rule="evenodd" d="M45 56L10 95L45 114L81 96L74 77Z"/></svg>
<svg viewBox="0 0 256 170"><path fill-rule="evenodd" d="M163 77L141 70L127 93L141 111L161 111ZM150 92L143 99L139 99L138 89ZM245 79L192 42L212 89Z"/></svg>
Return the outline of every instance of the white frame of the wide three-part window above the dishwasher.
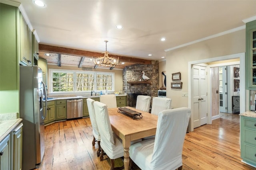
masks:
<svg viewBox="0 0 256 170"><path fill-rule="evenodd" d="M53 92L53 87L52 87L52 72L62 72L62 73L73 73L74 75L74 81L73 81L73 91L72 92ZM91 90L88 91L77 91L77 73L81 73L81 74L94 74L94 83L93 83L93 91L94 93L100 93L101 90L95 90L97 87L97 83L96 79L97 79L97 74L108 74L108 75L112 75L112 89L108 90L108 92L114 92L115 87L115 73L114 72L98 72L98 71L83 71L83 70L63 70L63 69L54 69L54 68L50 68L48 73L50 73L50 76L48 76L49 81L48 81L48 93L49 94L54 94L54 95L65 95L65 94L91 94ZM102 91L102 93L105 93L104 91Z"/></svg>

